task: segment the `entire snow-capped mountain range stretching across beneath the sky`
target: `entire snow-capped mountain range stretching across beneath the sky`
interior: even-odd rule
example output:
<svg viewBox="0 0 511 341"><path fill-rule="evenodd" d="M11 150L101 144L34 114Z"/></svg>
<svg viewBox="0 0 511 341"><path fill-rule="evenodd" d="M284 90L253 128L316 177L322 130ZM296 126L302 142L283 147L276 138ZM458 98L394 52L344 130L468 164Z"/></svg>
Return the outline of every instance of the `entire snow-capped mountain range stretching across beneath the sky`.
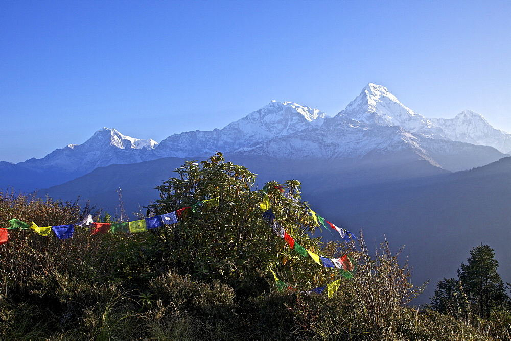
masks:
<svg viewBox="0 0 511 341"><path fill-rule="evenodd" d="M222 129L174 134L159 144L104 128L82 144L41 159L0 162L0 175L12 181L21 171L25 177L32 172L33 179L53 172L58 174L56 182L50 178L45 182L52 185L100 166L162 157L201 158L217 151L243 158L367 164L422 160L459 171L496 161L510 150L511 135L493 128L479 114L464 111L453 119L428 119L401 104L387 88L369 83L334 117L296 103L271 101ZM12 184L4 182L0 186Z"/></svg>

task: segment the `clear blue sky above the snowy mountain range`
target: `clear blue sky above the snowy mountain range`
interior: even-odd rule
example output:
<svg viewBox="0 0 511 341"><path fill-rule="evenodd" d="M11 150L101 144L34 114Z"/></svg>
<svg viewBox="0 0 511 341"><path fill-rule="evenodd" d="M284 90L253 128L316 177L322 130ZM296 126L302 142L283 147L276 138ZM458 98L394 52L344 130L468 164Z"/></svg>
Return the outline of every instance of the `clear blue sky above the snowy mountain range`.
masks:
<svg viewBox="0 0 511 341"><path fill-rule="evenodd" d="M0 1L0 160L102 127L222 128L271 100L335 115L368 83L511 132L511 2Z"/></svg>

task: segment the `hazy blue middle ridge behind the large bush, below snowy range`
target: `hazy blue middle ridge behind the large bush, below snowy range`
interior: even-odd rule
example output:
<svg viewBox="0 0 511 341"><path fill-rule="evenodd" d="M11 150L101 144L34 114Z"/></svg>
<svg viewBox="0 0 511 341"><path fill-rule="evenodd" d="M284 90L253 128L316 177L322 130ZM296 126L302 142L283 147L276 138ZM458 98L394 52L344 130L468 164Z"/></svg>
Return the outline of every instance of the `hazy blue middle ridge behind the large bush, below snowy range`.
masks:
<svg viewBox="0 0 511 341"><path fill-rule="evenodd" d="M204 158L196 158L200 161ZM175 168L189 158L161 158L141 163L99 167L89 174L56 185L40 189L39 196L49 195L55 199L72 200L80 194L82 199L97 203L107 211L118 206L117 189L123 190L123 201L128 212L139 206L146 206L158 198L153 188L163 180L174 177ZM258 174L257 185L261 188L271 180L298 179L303 183L305 193L330 188L349 187L356 184L375 184L382 181L403 180L431 175L445 174L446 171L426 161L396 163L395 160L374 158L366 162L339 161L297 161L278 160L266 157L242 157L226 155L226 160L244 165ZM307 200L307 198L305 199Z"/></svg>

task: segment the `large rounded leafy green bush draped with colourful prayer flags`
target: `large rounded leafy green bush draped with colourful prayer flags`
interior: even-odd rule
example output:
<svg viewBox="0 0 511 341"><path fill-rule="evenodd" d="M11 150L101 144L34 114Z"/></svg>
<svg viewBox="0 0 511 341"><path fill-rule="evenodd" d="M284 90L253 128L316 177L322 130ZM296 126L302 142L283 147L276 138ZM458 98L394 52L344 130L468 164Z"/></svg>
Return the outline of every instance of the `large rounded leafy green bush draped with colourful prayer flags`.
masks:
<svg viewBox="0 0 511 341"><path fill-rule="evenodd" d="M309 237L315 224L307 205L299 202L298 181L269 182L266 192L253 191L255 174L224 162L221 153L200 165L187 161L175 172L177 177L156 187L160 199L147 212L149 216L190 207L180 212L179 224L156 231L158 241L150 252L160 270L171 267L198 280L220 280L249 290L264 289L269 268L290 285L314 287L332 281L335 269L300 258L262 218L260 204L268 195L282 227L301 246L318 252L320 241Z"/></svg>

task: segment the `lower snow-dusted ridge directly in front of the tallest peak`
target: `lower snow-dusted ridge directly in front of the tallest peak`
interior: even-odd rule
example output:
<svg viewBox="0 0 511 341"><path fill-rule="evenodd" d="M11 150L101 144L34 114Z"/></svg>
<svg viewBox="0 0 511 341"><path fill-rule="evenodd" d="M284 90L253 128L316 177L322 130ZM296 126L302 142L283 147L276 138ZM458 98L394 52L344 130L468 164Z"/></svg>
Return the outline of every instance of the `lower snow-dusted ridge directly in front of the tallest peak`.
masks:
<svg viewBox="0 0 511 341"><path fill-rule="evenodd" d="M339 123L336 120L343 121ZM255 147L236 150L233 154L329 162L385 158L399 164L425 160L454 172L482 166L505 156L492 147L439 140L408 132L400 126L367 126L353 122L336 117L326 120L319 128L275 137Z"/></svg>

